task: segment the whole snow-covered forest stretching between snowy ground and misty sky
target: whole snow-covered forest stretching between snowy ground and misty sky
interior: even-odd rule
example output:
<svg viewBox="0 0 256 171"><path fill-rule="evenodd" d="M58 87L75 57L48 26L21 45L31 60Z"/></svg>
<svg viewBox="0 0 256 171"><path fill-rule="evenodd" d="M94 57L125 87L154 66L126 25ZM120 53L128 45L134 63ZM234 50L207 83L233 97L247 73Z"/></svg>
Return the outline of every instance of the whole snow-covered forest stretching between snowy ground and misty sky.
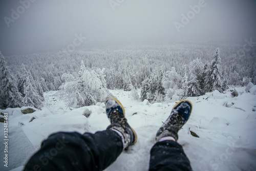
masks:
<svg viewBox="0 0 256 171"><path fill-rule="evenodd" d="M57 90L68 106L79 108L113 96L108 89L140 89L142 101L168 102L255 84L256 48L247 41L252 40L87 40L73 52L1 54L0 108L40 109L44 92Z"/></svg>

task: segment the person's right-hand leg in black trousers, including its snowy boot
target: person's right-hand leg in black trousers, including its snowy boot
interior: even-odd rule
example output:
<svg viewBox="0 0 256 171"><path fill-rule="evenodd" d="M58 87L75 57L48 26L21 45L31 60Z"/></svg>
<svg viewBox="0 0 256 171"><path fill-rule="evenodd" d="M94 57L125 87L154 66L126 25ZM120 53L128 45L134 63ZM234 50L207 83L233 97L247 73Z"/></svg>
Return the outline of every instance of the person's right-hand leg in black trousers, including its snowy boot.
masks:
<svg viewBox="0 0 256 171"><path fill-rule="evenodd" d="M156 134L157 143L151 149L150 171L192 170L178 140L178 131L188 120L192 104L188 100L177 103L168 119Z"/></svg>

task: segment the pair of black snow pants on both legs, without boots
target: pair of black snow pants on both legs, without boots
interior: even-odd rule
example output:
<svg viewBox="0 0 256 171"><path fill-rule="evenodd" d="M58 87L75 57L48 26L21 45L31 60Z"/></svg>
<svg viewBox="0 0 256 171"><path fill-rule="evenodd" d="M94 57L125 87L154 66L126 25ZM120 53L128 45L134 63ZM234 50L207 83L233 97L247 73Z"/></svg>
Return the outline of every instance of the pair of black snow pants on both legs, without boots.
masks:
<svg viewBox="0 0 256 171"><path fill-rule="evenodd" d="M121 137L111 130L83 135L60 132L42 142L24 170L100 171L112 164L122 151ZM153 170L191 170L191 167L180 144L162 141L151 149L150 171Z"/></svg>

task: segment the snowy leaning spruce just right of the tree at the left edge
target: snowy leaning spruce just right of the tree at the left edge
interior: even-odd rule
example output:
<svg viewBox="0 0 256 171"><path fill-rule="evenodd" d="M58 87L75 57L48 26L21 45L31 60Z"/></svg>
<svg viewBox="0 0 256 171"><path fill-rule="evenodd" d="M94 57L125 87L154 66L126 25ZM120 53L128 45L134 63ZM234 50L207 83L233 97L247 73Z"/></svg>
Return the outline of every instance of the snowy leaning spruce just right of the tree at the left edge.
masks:
<svg viewBox="0 0 256 171"><path fill-rule="evenodd" d="M37 109L42 107L45 100L42 88L38 81L35 81L30 71L23 64L22 74L19 75L19 91L23 96L23 104Z"/></svg>

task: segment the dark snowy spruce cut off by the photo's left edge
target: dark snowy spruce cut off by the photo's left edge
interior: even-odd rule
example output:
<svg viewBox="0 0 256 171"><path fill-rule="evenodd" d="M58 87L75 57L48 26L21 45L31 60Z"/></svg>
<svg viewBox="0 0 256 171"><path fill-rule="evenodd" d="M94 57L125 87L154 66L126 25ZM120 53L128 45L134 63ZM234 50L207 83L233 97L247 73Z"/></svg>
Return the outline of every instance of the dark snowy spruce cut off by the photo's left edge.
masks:
<svg viewBox="0 0 256 171"><path fill-rule="evenodd" d="M18 92L11 70L0 52L0 109L22 107L22 95Z"/></svg>

